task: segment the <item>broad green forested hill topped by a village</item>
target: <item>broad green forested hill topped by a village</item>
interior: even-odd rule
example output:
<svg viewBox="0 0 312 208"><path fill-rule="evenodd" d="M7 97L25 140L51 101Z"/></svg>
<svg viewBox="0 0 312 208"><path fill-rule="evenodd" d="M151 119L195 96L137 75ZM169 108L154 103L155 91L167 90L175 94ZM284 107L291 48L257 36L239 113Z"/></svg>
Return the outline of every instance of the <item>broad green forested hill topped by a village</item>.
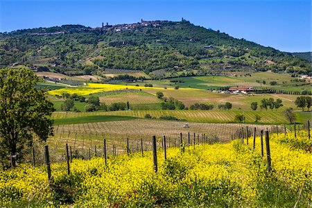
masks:
<svg viewBox="0 0 312 208"><path fill-rule="evenodd" d="M139 70L152 78L224 71L311 73L311 64L291 53L185 20L142 20L99 28L66 25L0 33L0 67L15 65L69 75Z"/></svg>

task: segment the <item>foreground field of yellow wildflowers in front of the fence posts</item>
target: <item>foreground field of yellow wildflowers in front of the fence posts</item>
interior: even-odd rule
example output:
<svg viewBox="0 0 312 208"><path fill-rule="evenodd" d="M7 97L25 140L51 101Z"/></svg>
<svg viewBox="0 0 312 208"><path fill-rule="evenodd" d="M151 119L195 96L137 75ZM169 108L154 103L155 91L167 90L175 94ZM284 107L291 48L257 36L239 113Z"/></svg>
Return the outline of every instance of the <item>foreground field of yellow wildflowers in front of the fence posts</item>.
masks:
<svg viewBox="0 0 312 208"><path fill-rule="evenodd" d="M158 172L151 152L52 164L49 185L44 166L21 164L0 173L1 207L311 207L311 151L294 146L306 141L289 133L270 135L272 171L260 155L235 140L157 149ZM292 139L284 142L283 139ZM311 145L311 141L310 141ZM266 151L264 152L266 155Z"/></svg>

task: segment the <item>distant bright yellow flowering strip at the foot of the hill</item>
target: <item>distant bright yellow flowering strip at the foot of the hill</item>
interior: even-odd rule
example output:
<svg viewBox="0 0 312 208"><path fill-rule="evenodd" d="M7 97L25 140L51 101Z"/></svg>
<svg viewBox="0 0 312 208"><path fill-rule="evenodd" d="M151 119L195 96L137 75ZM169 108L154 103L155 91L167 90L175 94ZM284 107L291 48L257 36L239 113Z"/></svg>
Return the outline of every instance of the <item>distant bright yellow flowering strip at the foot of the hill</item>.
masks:
<svg viewBox="0 0 312 208"><path fill-rule="evenodd" d="M164 89L162 87L143 87L143 86L133 86L133 85L112 85L112 84L98 84L98 83L87 83L85 86L81 87L65 87L62 89L54 89L49 91L51 95L59 95L67 92L69 94L78 94L80 96L85 96L89 94L95 94L98 92L107 92L121 89ZM180 88L179 90L200 90L193 88ZM175 90L173 87L168 87L166 90Z"/></svg>

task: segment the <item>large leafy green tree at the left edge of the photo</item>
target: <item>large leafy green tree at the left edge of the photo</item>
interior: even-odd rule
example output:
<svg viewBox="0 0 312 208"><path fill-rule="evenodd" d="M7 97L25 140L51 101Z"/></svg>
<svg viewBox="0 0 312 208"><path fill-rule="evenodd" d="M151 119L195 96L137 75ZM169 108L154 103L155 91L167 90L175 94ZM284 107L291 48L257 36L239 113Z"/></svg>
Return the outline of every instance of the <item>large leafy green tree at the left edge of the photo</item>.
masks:
<svg viewBox="0 0 312 208"><path fill-rule="evenodd" d="M33 144L34 135L39 141L53 135L53 103L35 87L39 81L31 69L0 70L0 154L17 155L13 166L15 159L22 159L22 150Z"/></svg>

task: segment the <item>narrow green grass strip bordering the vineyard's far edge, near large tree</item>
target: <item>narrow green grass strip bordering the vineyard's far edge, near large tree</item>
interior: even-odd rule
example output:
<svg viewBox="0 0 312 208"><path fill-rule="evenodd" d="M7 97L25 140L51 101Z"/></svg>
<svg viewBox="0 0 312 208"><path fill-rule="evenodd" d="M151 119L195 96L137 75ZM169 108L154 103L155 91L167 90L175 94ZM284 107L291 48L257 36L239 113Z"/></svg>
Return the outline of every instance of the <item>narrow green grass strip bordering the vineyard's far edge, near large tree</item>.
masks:
<svg viewBox="0 0 312 208"><path fill-rule="evenodd" d="M130 116L81 116L76 118L54 119L54 125L76 124L76 123L94 123L106 121L129 121L136 119Z"/></svg>

